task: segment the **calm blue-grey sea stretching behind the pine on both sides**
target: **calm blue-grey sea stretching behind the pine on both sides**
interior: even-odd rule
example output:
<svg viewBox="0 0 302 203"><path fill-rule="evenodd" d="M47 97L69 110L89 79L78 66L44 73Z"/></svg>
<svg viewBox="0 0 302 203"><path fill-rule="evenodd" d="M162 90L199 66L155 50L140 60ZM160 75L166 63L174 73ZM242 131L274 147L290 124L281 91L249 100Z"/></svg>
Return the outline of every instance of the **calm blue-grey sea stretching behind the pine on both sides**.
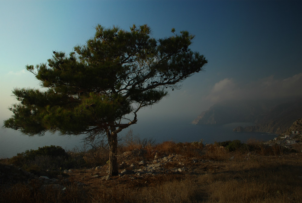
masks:
<svg viewBox="0 0 302 203"><path fill-rule="evenodd" d="M120 132L119 136L125 135L129 129L134 135L140 138L153 138L157 142L175 141L192 142L204 140L204 143L214 143L215 141L241 140L246 142L250 138L267 141L277 135L258 132L233 132L233 128L241 125L252 125L249 123L230 123L226 125L192 125L189 119L178 120L140 120L131 128L126 128ZM45 145L58 145L64 149L82 147L83 136L59 136L57 134L46 134L44 136L28 137L18 131L11 129L0 129L0 158L12 157L17 153L28 149L37 149Z"/></svg>

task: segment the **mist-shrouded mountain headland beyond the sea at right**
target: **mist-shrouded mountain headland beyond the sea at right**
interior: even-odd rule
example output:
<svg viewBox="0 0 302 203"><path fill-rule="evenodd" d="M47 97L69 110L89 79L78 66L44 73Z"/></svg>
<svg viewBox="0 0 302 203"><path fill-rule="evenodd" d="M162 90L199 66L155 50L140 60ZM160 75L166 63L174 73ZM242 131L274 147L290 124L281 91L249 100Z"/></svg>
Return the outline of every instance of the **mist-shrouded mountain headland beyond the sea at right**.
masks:
<svg viewBox="0 0 302 203"><path fill-rule="evenodd" d="M192 124L213 125L233 122L251 122L254 126L238 128L237 131L269 132L281 134L294 121L302 118L302 101L225 101L202 112Z"/></svg>

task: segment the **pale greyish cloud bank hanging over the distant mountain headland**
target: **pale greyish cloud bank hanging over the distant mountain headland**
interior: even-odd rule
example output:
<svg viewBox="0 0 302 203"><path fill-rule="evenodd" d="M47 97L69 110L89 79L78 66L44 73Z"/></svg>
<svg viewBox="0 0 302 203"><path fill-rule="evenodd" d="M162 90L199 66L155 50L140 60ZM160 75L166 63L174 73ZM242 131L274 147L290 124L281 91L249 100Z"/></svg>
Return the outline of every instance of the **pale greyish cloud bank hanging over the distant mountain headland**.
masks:
<svg viewBox="0 0 302 203"><path fill-rule="evenodd" d="M302 96L302 73L290 78L261 78L248 84L236 83L232 78L217 82L205 100L217 103L223 100L279 99Z"/></svg>

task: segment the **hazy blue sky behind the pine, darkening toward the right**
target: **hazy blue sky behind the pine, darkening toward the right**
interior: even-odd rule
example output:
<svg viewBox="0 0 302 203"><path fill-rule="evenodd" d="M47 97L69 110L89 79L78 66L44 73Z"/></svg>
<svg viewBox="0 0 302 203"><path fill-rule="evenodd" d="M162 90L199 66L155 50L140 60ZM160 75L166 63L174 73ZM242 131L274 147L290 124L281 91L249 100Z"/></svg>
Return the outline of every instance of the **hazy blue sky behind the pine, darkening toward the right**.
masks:
<svg viewBox="0 0 302 203"><path fill-rule="evenodd" d="M195 35L190 48L208 59L206 71L138 119L193 120L223 99L301 96L301 8L301 1L2 1L0 121L11 116L14 87L38 87L25 65L47 62L53 50L71 52L97 24L148 24L156 39L172 35L172 27L188 30Z"/></svg>

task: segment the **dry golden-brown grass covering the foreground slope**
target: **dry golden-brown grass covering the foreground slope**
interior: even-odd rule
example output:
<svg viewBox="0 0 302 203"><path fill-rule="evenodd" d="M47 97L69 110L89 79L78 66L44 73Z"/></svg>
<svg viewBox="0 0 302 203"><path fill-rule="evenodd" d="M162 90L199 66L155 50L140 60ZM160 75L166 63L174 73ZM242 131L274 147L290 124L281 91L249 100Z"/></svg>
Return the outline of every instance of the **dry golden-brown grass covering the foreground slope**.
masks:
<svg viewBox="0 0 302 203"><path fill-rule="evenodd" d="M92 170L78 169L70 175L64 192L51 186L41 189L41 182L34 180L2 185L0 202L302 202L301 153L285 152L281 147L255 141L248 143L247 151L233 152L217 144L204 146L202 142L169 141L143 148L147 154L141 159L151 160L156 152L180 154L180 161L191 170L137 179L130 178L134 175L112 177L105 181L91 178L90 174L95 173ZM174 167L171 164L165 167ZM104 166L99 176L106 175L106 170ZM77 182L86 186L80 187Z"/></svg>

